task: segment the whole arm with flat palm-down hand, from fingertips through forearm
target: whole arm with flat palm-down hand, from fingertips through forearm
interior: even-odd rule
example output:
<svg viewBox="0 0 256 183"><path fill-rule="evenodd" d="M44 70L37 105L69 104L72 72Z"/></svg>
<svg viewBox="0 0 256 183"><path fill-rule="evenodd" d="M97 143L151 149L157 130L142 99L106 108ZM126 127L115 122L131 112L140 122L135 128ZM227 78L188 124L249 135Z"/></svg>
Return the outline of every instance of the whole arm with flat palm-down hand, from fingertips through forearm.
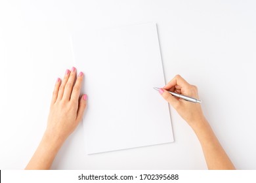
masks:
<svg viewBox="0 0 256 183"><path fill-rule="evenodd" d="M63 81L57 79L47 129L26 169L49 169L58 150L82 119L87 95L80 95L83 73L66 70Z"/></svg>

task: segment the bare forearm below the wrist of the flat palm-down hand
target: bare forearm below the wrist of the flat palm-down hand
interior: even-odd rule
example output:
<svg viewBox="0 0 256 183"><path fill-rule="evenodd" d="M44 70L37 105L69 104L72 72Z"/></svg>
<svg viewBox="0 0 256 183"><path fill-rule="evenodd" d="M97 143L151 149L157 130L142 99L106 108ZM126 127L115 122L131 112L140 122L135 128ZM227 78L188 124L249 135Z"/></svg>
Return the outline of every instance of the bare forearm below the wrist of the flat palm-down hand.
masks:
<svg viewBox="0 0 256 183"><path fill-rule="evenodd" d="M50 169L63 142L63 139L56 138L54 135L45 132L26 169Z"/></svg>

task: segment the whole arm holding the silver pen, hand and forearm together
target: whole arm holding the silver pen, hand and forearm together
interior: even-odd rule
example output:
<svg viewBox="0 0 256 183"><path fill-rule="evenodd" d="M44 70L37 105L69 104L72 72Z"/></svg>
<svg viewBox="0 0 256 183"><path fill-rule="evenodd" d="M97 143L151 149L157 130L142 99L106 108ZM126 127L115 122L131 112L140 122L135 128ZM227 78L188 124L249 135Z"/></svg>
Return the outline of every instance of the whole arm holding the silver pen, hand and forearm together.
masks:
<svg viewBox="0 0 256 183"><path fill-rule="evenodd" d="M166 90L199 99L196 86L188 84L184 78L177 75L159 92L196 133L202 146L208 169L236 169L203 116L201 105L174 97Z"/></svg>

